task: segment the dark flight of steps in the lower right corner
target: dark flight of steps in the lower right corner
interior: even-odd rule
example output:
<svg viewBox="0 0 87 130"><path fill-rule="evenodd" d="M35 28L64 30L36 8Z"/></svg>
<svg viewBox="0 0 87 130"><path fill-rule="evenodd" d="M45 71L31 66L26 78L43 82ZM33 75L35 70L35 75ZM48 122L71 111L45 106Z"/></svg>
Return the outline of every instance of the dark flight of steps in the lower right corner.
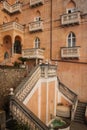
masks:
<svg viewBox="0 0 87 130"><path fill-rule="evenodd" d="M86 103L78 102L74 121L79 123L85 123L85 110L86 110Z"/></svg>

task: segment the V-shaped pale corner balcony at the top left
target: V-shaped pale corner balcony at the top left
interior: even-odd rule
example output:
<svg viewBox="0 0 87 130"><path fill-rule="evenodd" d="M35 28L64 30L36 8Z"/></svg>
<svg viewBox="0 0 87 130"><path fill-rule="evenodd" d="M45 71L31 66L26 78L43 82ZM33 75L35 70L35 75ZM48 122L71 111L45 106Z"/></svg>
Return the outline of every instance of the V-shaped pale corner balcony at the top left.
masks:
<svg viewBox="0 0 87 130"><path fill-rule="evenodd" d="M17 12L21 12L21 4L15 3L13 5L10 5L6 1L3 2L3 10L5 10L9 14L14 14Z"/></svg>

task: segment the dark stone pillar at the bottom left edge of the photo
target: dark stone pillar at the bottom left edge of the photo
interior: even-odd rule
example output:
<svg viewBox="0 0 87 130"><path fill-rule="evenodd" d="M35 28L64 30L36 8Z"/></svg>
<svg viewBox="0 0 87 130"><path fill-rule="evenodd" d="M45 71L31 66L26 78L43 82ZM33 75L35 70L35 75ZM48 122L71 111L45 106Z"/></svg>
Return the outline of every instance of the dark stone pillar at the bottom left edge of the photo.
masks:
<svg viewBox="0 0 87 130"><path fill-rule="evenodd" d="M0 110L0 130L5 130L6 126L5 122L6 122L5 111Z"/></svg>

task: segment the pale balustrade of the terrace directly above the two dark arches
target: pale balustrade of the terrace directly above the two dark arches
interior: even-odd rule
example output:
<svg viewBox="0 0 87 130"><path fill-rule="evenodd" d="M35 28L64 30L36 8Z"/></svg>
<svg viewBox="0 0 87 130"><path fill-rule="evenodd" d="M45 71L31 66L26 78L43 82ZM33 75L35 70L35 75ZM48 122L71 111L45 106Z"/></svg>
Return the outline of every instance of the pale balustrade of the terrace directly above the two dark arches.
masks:
<svg viewBox="0 0 87 130"><path fill-rule="evenodd" d="M10 30L18 30L23 32L24 26L16 22L8 22L0 25L0 32L10 31Z"/></svg>

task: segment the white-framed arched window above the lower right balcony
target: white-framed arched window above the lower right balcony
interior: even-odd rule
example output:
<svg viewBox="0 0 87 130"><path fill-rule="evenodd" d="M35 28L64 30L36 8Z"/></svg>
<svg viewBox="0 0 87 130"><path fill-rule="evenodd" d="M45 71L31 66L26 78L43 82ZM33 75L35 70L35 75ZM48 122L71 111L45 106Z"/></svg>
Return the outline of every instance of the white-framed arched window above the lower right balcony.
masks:
<svg viewBox="0 0 87 130"><path fill-rule="evenodd" d="M68 47L74 47L76 45L76 36L73 32L68 35Z"/></svg>

